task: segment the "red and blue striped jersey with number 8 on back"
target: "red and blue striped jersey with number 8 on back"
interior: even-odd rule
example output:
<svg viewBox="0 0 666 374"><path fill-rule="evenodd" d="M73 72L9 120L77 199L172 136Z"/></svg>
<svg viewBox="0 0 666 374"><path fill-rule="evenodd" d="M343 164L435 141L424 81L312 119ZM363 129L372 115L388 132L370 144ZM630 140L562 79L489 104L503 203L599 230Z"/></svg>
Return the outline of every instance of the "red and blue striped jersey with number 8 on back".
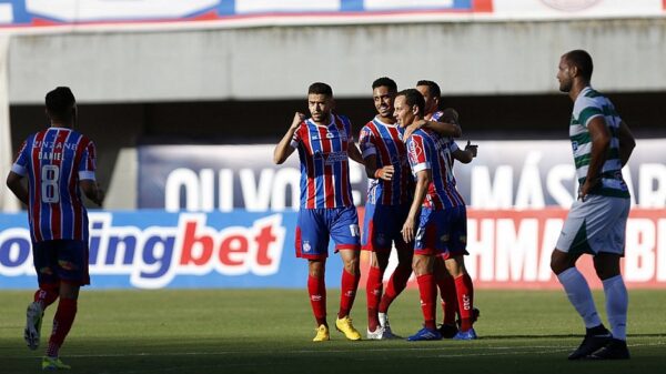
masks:
<svg viewBox="0 0 666 374"><path fill-rule="evenodd" d="M28 176L28 216L33 242L88 241L88 212L80 180L94 180L95 148L87 137L49 128L28 137L11 170Z"/></svg>

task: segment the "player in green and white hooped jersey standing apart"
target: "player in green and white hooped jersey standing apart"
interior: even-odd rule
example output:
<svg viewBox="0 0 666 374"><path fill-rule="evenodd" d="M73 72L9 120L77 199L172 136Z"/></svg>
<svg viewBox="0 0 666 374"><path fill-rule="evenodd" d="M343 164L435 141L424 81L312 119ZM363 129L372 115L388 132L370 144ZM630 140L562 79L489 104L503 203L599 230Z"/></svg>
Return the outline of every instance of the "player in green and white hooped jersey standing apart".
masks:
<svg viewBox="0 0 666 374"><path fill-rule="evenodd" d="M574 50L559 59L559 91L568 93L574 102L569 139L579 189L553 251L551 267L586 327L583 343L568 358L629 358L628 296L619 270L629 191L622 168L636 142L613 103L591 87L592 70L592 57L586 51ZM594 256L596 274L604 284L612 333L602 323L587 281L576 269L584 253Z"/></svg>

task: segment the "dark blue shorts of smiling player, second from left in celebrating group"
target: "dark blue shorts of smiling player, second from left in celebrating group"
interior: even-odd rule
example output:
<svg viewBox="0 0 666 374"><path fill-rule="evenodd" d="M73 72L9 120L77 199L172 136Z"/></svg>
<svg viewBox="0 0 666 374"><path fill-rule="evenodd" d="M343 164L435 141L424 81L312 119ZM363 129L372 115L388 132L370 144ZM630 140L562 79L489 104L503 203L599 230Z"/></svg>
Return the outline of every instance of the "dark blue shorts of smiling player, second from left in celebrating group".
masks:
<svg viewBox="0 0 666 374"><path fill-rule="evenodd" d="M408 204L365 204L361 249L372 252L390 252L393 243L397 251L412 251L414 243L405 243L402 226L410 213Z"/></svg>

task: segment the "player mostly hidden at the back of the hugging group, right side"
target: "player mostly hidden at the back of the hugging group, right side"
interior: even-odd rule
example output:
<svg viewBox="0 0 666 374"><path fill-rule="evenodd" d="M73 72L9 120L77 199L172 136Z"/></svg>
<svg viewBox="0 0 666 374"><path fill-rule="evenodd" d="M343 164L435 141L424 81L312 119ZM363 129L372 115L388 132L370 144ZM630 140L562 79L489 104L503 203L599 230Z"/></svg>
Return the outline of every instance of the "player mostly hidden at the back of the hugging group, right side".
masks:
<svg viewBox="0 0 666 374"><path fill-rule="evenodd" d="M433 121L446 121L457 123L458 115L453 109L444 111L438 110L441 90L440 85L433 81L421 80L416 83L416 90L423 94L425 100L425 118ZM418 122L416 123L416 125ZM457 160L463 163L470 163L476 156L477 146L467 141L464 150L455 143L453 138L447 138L450 153L448 163L453 170L453 162ZM455 176L451 174L452 184L455 189ZM465 230L466 236L466 222ZM478 317L478 310L474 307L474 285L472 277L465 269L464 255L468 252L465 249L466 237L461 237L460 245L454 245L448 251L435 260L436 282L442 296L442 309L444 320L440 326L440 332L444 337L455 340L474 340L476 332L473 324ZM456 313L460 315L460 331L455 323Z"/></svg>

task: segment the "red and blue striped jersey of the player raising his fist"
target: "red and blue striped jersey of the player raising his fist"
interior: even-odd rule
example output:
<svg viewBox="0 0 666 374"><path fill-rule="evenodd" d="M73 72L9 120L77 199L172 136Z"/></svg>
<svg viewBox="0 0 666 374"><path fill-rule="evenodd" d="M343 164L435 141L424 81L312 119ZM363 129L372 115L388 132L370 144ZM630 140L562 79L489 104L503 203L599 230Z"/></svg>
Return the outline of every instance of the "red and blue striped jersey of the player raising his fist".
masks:
<svg viewBox="0 0 666 374"><path fill-rule="evenodd" d="M332 114L329 125L307 119L291 142L301 160L301 208L343 208L354 204L347 149L354 145L352 123Z"/></svg>

